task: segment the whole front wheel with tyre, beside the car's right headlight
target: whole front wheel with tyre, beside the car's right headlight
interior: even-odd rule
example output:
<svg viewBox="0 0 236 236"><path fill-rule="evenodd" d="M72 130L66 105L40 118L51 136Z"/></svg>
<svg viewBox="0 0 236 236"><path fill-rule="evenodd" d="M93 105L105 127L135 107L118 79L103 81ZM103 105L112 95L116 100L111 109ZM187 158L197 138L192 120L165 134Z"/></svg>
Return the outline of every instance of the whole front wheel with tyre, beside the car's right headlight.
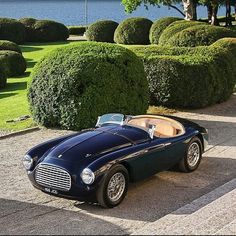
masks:
<svg viewBox="0 0 236 236"><path fill-rule="evenodd" d="M102 180L98 191L97 200L103 207L118 206L128 190L129 174L123 165L115 165Z"/></svg>

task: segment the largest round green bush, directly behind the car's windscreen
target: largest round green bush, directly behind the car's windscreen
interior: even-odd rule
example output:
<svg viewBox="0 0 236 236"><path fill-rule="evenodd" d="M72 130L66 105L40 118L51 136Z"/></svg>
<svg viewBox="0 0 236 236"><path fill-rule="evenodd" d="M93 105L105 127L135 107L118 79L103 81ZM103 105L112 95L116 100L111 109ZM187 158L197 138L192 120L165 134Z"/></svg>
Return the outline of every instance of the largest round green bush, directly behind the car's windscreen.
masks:
<svg viewBox="0 0 236 236"><path fill-rule="evenodd" d="M38 123L79 130L93 127L104 113L145 113L147 86L133 52L86 42L54 50L37 63L28 97Z"/></svg>

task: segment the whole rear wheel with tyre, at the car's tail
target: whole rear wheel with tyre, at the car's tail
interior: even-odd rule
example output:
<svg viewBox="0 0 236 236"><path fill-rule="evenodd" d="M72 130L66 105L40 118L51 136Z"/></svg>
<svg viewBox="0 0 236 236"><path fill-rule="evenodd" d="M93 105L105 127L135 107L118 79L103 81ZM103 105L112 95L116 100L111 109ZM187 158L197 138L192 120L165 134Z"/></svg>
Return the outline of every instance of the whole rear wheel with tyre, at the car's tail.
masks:
<svg viewBox="0 0 236 236"><path fill-rule="evenodd" d="M196 170L202 159L202 143L198 137L194 137L188 144L184 158L179 162L179 169L183 172Z"/></svg>

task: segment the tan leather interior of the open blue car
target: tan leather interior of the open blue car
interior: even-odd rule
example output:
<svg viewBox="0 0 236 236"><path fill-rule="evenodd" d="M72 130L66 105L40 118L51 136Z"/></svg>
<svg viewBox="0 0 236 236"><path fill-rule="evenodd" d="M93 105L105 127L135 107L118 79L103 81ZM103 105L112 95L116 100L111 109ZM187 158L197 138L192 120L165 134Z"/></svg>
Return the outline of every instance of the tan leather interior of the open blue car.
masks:
<svg viewBox="0 0 236 236"><path fill-rule="evenodd" d="M163 116L134 116L127 122L127 125L144 128L145 130L155 125L154 136L159 138L175 137L185 133L182 124Z"/></svg>

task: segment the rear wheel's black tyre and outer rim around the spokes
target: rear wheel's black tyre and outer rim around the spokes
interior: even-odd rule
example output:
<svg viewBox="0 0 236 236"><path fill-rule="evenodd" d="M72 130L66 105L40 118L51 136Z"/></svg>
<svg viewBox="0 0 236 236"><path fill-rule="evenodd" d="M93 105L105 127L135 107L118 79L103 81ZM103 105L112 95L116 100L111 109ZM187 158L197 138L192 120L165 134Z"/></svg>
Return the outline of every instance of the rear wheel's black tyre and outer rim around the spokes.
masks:
<svg viewBox="0 0 236 236"><path fill-rule="evenodd" d="M198 159L195 160L195 162L192 163L192 165L190 164L190 157L189 157L189 150L190 148L195 147L199 150L199 156ZM191 139L191 141L188 144L185 156L182 158L182 160L179 162L178 164L178 168L180 171L185 172L185 173L189 173L192 172L194 170L196 170L198 168L198 166L200 165L200 162L202 160L202 142L198 137L194 137Z"/></svg>

